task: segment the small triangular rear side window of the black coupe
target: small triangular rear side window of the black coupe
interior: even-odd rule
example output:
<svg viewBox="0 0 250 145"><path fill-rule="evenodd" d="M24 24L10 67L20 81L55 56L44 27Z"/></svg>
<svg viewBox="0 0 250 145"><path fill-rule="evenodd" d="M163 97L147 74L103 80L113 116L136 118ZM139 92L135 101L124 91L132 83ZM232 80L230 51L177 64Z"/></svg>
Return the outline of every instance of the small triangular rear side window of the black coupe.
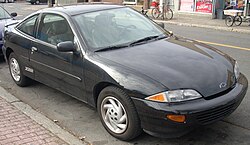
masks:
<svg viewBox="0 0 250 145"><path fill-rule="evenodd" d="M34 36L34 29L36 24L36 19L38 15L32 16L25 20L19 27L18 30L22 31L25 34L28 34L30 36Z"/></svg>

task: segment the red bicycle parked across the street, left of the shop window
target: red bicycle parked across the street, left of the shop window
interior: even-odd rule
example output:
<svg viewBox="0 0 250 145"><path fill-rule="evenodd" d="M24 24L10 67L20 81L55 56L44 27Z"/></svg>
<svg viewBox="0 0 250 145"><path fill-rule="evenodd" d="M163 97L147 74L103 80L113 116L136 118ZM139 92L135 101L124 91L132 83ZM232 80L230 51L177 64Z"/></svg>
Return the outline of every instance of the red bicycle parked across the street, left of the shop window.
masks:
<svg viewBox="0 0 250 145"><path fill-rule="evenodd" d="M152 17L156 19L156 18L159 18L159 16L161 16L163 20L165 18L168 20L171 20L173 18L173 11L171 10L169 6L170 6L169 3L166 5L163 3L162 12L161 12L159 5L157 5L151 11Z"/></svg>

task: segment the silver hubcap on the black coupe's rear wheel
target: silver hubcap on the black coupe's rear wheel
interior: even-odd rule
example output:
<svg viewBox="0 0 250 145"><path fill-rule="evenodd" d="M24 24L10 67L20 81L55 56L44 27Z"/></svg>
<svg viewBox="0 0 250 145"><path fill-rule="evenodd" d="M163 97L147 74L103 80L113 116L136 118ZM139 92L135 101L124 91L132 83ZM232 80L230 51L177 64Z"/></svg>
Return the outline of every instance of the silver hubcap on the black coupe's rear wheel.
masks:
<svg viewBox="0 0 250 145"><path fill-rule="evenodd" d="M20 76L20 67L15 58L10 59L10 72L15 81L20 81L21 76Z"/></svg>

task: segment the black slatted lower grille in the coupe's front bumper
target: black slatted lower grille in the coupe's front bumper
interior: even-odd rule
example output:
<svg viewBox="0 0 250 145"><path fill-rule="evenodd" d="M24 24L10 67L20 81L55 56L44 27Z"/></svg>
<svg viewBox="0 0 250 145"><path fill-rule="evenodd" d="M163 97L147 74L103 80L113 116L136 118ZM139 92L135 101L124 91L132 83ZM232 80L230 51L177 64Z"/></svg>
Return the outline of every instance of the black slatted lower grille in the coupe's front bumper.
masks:
<svg viewBox="0 0 250 145"><path fill-rule="evenodd" d="M218 121L234 111L235 104L224 105L197 113L197 120L205 125Z"/></svg>

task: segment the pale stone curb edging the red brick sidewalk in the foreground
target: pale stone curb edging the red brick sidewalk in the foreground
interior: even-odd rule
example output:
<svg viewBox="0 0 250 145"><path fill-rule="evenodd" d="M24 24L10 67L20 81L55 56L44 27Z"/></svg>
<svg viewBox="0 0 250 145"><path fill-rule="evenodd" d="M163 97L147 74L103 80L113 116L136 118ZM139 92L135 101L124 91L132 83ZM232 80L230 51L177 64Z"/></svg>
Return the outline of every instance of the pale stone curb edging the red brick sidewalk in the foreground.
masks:
<svg viewBox="0 0 250 145"><path fill-rule="evenodd" d="M25 115L29 116L35 122L43 126L45 129L49 130L60 139L65 141L70 145L87 145L85 142L81 141L74 135L70 134L68 131L61 128L59 125L51 121L49 118L44 116L43 114L34 110L28 104L23 103L21 100L16 98L15 96L8 93L4 88L0 86L0 94L3 99L5 99L8 103L14 105L18 110L23 112Z"/></svg>

